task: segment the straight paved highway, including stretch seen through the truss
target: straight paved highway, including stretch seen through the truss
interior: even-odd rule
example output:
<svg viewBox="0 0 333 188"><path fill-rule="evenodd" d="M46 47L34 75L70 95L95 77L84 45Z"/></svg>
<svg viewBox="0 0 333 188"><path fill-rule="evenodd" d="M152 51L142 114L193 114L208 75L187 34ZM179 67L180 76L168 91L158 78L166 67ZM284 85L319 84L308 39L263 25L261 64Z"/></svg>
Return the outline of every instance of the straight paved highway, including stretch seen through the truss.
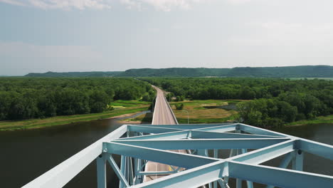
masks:
<svg viewBox="0 0 333 188"><path fill-rule="evenodd" d="M157 90L157 98L154 107L154 114L152 125L174 125L178 124L174 113L172 112L171 108L169 108L169 104L164 97L164 93L161 89L157 88L153 85L153 88ZM172 150L175 152L182 152L186 153L186 150ZM176 169L177 167L174 167ZM147 162L144 172L158 172L158 171L173 171L172 167L167 164L161 164L157 162ZM147 175L144 176L144 182L149 182L152 179L157 179L159 177L164 177L164 175Z"/></svg>

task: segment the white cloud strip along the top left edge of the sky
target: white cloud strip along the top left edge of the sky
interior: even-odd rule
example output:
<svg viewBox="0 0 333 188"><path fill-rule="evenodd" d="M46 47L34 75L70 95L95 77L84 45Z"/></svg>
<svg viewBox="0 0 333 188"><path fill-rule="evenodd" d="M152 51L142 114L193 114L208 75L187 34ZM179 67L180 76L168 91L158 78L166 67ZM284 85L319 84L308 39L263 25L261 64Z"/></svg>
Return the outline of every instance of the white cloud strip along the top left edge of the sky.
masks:
<svg viewBox="0 0 333 188"><path fill-rule="evenodd" d="M0 0L6 4L40 9L110 9L110 0Z"/></svg>

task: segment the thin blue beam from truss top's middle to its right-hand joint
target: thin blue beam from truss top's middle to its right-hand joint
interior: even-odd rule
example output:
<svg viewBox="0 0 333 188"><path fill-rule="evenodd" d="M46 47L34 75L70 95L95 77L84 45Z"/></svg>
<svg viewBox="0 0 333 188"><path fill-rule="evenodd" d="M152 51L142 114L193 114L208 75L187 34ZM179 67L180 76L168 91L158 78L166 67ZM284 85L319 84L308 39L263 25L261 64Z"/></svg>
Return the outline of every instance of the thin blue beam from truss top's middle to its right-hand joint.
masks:
<svg viewBox="0 0 333 188"><path fill-rule="evenodd" d="M250 135L240 133L228 133L228 132L206 132L199 130L191 131L191 138L276 138L265 135Z"/></svg>

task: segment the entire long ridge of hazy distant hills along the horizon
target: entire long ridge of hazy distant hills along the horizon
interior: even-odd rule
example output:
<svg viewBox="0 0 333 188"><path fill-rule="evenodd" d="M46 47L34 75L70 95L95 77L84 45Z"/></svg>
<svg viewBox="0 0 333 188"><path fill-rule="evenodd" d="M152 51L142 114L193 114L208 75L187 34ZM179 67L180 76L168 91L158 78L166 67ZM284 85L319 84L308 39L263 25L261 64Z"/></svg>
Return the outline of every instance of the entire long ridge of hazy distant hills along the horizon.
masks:
<svg viewBox="0 0 333 188"><path fill-rule="evenodd" d="M333 78L333 66L236 67L236 68L138 68L113 72L28 73L30 77L255 77Z"/></svg>

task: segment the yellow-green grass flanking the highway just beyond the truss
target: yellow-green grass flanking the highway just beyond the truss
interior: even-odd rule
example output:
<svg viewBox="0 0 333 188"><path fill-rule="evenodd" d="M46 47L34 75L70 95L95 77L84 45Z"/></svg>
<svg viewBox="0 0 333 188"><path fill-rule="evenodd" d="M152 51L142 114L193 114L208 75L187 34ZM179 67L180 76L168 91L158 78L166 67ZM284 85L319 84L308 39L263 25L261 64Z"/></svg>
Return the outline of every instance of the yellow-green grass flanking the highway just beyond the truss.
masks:
<svg viewBox="0 0 333 188"><path fill-rule="evenodd" d="M241 100L185 100L181 102L172 102L171 108L179 123L187 123L187 113L183 110L176 110L176 103L183 103L184 110L189 112L189 123L216 123L233 120L235 110L224 110L220 108L204 108L205 106L228 105L228 103L238 103ZM152 122L152 113L139 115L138 117L125 120L127 122Z"/></svg>

